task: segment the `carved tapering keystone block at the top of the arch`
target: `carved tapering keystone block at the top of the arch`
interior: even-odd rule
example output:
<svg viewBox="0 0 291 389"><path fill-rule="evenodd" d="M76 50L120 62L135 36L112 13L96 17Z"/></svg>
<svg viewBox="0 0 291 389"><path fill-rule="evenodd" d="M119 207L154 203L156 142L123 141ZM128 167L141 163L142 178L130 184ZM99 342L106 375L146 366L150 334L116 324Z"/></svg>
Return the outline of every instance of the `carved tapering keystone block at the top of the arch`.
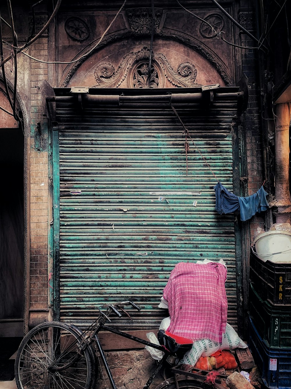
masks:
<svg viewBox="0 0 291 389"><path fill-rule="evenodd" d="M152 33L152 10L151 8L133 8L127 9L126 15L130 28L134 35L151 35ZM159 9L155 10L155 30L161 21L162 12Z"/></svg>

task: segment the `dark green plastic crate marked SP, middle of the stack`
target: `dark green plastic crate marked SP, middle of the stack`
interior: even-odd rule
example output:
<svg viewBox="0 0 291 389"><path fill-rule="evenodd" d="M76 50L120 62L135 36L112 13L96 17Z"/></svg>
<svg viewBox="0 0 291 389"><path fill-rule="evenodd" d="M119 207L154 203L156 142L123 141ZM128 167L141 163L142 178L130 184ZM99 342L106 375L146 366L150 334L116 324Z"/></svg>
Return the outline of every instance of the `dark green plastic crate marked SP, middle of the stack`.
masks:
<svg viewBox="0 0 291 389"><path fill-rule="evenodd" d="M249 314L260 336L269 347L291 349L291 310L263 301L253 285L249 286Z"/></svg>

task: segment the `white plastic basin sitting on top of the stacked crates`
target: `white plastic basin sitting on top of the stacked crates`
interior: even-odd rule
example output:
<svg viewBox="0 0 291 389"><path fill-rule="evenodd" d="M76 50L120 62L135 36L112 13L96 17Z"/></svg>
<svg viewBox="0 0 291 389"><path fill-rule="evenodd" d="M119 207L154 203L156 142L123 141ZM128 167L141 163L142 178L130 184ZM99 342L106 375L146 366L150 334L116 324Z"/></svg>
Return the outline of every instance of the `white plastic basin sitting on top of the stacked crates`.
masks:
<svg viewBox="0 0 291 389"><path fill-rule="evenodd" d="M291 263L291 233L286 231L267 231L254 240L255 255L262 261Z"/></svg>

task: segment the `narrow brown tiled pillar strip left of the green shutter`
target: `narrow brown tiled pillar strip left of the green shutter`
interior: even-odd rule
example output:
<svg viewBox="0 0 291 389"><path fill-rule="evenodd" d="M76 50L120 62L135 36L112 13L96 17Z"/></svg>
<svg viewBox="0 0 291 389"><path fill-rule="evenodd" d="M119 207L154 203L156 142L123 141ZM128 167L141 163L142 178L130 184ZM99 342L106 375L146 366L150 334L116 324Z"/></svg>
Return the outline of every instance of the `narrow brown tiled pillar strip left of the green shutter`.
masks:
<svg viewBox="0 0 291 389"><path fill-rule="evenodd" d="M47 38L40 38L29 54L48 60ZM43 116L40 86L47 79L48 65L31 60L30 71L30 309L48 304L48 153L47 119Z"/></svg>

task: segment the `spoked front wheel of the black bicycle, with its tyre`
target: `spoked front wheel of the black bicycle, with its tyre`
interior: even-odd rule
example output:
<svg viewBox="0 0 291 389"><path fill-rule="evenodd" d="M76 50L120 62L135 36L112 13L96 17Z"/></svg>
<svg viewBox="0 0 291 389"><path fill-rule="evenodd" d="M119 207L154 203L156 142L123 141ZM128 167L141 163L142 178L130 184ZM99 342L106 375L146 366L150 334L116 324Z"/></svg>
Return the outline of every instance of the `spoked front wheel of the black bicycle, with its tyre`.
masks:
<svg viewBox="0 0 291 389"><path fill-rule="evenodd" d="M89 389L90 346L80 355L81 336L61 322L33 328L21 342L15 361L18 389Z"/></svg>

